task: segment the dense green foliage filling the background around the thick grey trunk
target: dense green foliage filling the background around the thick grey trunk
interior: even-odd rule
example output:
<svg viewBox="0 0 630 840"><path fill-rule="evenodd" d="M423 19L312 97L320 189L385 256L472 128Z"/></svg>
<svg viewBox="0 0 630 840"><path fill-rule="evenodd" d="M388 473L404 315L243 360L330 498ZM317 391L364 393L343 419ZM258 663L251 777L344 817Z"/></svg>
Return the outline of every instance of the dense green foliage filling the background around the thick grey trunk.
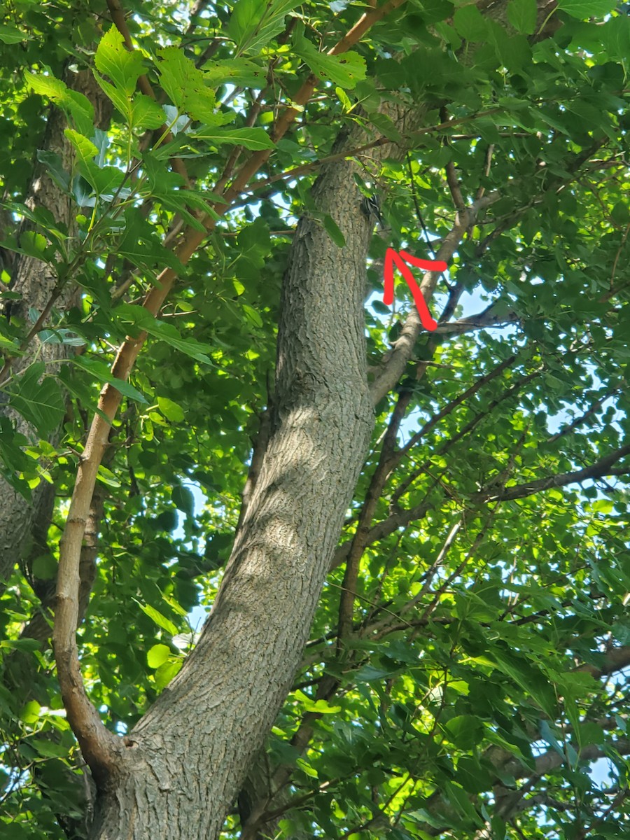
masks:
<svg viewBox="0 0 630 840"><path fill-rule="evenodd" d="M393 310L381 302L386 248L431 258L457 211L491 201L438 281L440 326L376 406L268 740L274 795L241 797L226 837L246 817L243 837L629 830L630 18L608 0L410 0L329 54L365 10L4 8L0 455L9 495L29 506L48 485L55 503L13 552L0 600L2 837L87 830L50 627L98 393L113 382L123 405L92 503L78 642L88 694L123 734L218 590L273 392L297 218L317 218L344 265L343 225L310 188L357 125L348 212L376 192L385 217L366 274L372 377L410 311L404 284ZM278 135L310 72L312 97ZM403 153L375 157L386 142ZM38 204L35 166L56 207ZM35 263L52 278L44 302L24 278L16 291ZM179 279L154 318L141 304L169 267ZM113 379L118 345L142 332L129 382Z"/></svg>

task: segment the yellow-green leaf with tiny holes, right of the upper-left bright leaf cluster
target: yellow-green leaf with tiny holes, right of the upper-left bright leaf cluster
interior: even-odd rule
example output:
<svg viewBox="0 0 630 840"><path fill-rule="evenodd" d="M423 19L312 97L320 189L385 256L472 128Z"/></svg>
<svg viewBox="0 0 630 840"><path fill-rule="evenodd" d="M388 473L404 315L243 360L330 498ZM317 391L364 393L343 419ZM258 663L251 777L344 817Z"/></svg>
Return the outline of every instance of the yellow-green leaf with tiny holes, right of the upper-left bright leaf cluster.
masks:
<svg viewBox="0 0 630 840"><path fill-rule="evenodd" d="M223 114L217 111L217 100L212 88L207 87L202 71L186 58L178 47L158 50L160 83L180 112L208 125L220 125Z"/></svg>

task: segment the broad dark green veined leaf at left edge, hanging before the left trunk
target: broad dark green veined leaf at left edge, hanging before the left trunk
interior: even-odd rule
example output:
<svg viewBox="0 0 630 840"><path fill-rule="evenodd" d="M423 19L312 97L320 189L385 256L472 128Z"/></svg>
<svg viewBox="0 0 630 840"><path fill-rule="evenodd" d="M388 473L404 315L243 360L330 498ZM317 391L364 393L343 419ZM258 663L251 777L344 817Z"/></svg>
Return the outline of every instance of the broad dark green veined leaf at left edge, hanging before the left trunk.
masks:
<svg viewBox="0 0 630 840"><path fill-rule="evenodd" d="M44 362L29 365L10 394L11 406L37 429L40 437L47 438L59 428L66 406L57 382L45 376Z"/></svg>

